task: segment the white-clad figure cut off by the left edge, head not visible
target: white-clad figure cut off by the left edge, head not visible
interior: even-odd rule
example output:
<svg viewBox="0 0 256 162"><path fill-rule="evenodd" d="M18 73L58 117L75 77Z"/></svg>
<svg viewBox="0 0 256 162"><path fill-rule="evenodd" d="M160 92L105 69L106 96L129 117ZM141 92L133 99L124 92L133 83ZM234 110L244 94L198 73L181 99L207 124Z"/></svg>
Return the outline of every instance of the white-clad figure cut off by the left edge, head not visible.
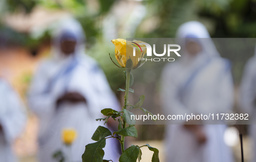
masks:
<svg viewBox="0 0 256 162"><path fill-rule="evenodd" d="M16 162L11 145L26 126L26 113L19 95L0 78L0 161Z"/></svg>

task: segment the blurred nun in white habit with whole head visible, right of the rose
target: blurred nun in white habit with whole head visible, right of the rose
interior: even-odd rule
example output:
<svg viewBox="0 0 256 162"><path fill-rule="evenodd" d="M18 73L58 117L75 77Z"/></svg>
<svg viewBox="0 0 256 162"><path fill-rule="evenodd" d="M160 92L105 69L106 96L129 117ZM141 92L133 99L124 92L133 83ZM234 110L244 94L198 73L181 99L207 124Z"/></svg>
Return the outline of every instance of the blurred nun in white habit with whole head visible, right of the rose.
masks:
<svg viewBox="0 0 256 162"><path fill-rule="evenodd" d="M167 64L162 72L165 114L226 113L233 104L229 62L220 57L200 22L182 24L177 38L181 58ZM166 162L233 161L232 152L223 138L226 125L186 125L181 122L166 126Z"/></svg>

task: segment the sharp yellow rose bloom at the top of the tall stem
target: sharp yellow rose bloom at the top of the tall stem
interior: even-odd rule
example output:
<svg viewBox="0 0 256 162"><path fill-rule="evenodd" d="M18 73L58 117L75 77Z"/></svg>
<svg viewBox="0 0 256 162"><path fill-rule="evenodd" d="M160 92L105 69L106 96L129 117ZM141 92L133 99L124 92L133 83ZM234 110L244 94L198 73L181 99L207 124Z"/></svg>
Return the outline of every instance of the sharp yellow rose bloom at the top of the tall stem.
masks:
<svg viewBox="0 0 256 162"><path fill-rule="evenodd" d="M139 58L143 58L146 54L146 45L139 44L144 43L143 41L126 41L125 39L113 39L111 41L115 45L115 57L121 67L126 67L126 57L131 58L133 61L132 69L136 69L141 65L142 60L139 61ZM133 48L135 48L136 56L133 56Z"/></svg>

